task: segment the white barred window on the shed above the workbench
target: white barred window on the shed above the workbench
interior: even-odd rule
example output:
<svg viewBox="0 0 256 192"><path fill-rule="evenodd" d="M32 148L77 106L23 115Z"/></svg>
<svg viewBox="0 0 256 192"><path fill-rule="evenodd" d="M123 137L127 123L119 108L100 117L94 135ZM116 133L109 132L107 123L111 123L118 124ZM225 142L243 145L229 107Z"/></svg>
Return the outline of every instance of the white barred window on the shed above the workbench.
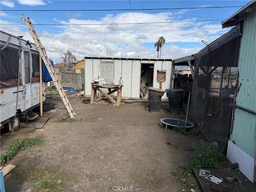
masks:
<svg viewBox="0 0 256 192"><path fill-rule="evenodd" d="M114 82L114 62L100 62L100 78L108 83Z"/></svg>

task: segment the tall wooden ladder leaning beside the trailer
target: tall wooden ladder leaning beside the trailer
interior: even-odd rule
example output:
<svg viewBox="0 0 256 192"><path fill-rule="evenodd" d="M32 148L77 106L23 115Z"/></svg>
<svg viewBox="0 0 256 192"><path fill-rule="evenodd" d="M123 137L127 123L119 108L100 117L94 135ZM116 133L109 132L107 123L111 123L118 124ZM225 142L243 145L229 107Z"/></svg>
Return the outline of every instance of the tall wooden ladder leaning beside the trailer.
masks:
<svg viewBox="0 0 256 192"><path fill-rule="evenodd" d="M76 113L74 112L74 110L68 100L68 97L66 96L66 93L64 92L64 89L58 80L56 72L54 71L54 68L52 67L52 65L50 63L50 60L46 54L46 51L44 50L44 47L42 46L42 43L36 33L36 30L34 29L33 24L30 21L30 18L26 18L25 15L22 14L22 17L20 19L24 20L24 22L28 28L28 31L30 32L30 35L32 36L32 38L34 40L34 43L36 44L36 47L38 48L40 56L42 57L42 60L44 61L44 64L45 64L50 76L52 77L52 81L54 82L54 85L56 86L56 88L60 94L60 97L66 106L66 109L68 110L70 118L74 118L74 115Z"/></svg>

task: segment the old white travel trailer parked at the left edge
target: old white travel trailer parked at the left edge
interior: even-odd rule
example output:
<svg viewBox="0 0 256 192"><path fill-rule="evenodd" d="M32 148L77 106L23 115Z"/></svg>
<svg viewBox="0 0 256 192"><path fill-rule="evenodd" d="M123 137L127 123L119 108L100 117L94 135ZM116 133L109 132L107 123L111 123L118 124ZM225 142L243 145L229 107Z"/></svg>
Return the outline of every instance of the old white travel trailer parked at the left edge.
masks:
<svg viewBox="0 0 256 192"><path fill-rule="evenodd" d="M0 127L16 130L20 116L40 106L40 56L35 44L0 31ZM46 98L42 83L42 101Z"/></svg>

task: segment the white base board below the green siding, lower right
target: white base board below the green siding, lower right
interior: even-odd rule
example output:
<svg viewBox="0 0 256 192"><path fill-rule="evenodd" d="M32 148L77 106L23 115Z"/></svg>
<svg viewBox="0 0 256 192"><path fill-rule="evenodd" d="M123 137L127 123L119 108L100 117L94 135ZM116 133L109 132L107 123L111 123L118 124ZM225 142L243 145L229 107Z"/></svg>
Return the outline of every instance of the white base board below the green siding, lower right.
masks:
<svg viewBox="0 0 256 192"><path fill-rule="evenodd" d="M227 158L231 163L238 163L239 170L253 182L254 158L228 140Z"/></svg>

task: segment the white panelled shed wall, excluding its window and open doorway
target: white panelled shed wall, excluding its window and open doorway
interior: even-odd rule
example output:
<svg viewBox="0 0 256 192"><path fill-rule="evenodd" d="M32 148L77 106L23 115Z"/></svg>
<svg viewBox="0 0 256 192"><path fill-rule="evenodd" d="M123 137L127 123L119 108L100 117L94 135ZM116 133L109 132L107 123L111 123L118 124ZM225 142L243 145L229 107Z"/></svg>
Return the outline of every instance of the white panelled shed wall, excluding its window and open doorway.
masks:
<svg viewBox="0 0 256 192"><path fill-rule="evenodd" d="M99 63L114 62L114 84L118 84L120 77L123 78L122 98L140 98L141 64L154 64L153 87L159 88L156 80L157 70L166 71L166 81L162 82L162 90L169 89L171 84L172 61L154 60L120 60L85 58L85 96L91 95L92 79L98 78ZM116 96L116 93L114 94ZM162 97L168 100L166 94Z"/></svg>

